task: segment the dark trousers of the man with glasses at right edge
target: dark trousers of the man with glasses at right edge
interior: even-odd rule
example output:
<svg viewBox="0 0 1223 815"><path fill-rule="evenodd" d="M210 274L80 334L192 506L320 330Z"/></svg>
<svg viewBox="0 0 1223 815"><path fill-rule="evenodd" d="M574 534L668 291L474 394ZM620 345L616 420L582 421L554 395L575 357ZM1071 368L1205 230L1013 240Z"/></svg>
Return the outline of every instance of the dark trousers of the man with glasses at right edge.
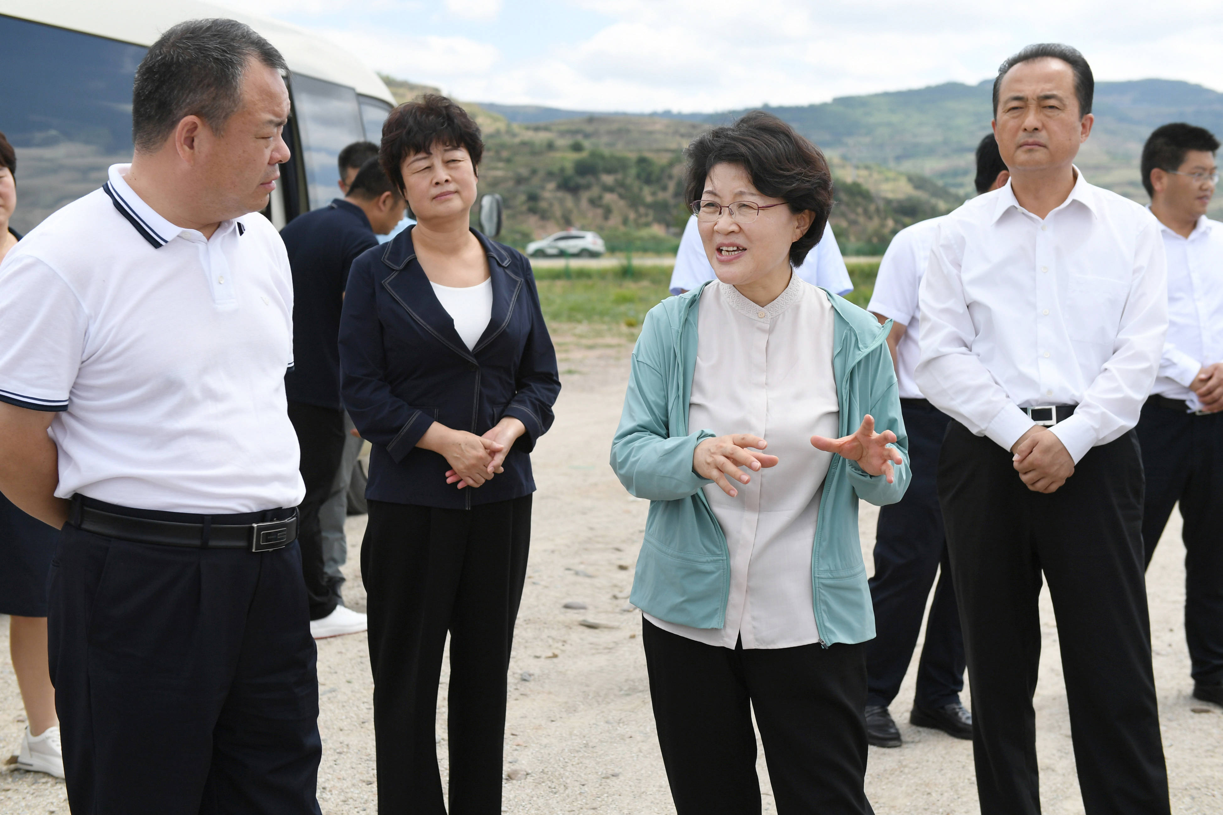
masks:
<svg viewBox="0 0 1223 815"><path fill-rule="evenodd" d="M1223 413L1192 415L1153 401L1142 406L1139 444L1146 468L1142 543L1151 563L1172 507L1180 501L1185 541L1185 639L1192 678L1223 682Z"/></svg>

